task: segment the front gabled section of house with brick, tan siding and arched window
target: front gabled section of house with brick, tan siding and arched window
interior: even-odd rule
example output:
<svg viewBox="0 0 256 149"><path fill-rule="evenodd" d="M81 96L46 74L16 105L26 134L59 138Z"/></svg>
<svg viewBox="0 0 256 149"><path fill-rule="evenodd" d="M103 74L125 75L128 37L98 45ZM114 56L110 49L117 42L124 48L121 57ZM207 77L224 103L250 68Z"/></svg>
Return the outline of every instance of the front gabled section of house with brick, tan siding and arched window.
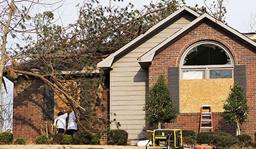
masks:
<svg viewBox="0 0 256 149"><path fill-rule="evenodd" d="M250 106L242 134L256 132L256 42L207 13L199 15L183 6L97 67L109 70L110 119L120 122L129 139L144 137L143 106L159 74L168 79L179 113L176 122L163 123L163 129L198 132L200 108L211 105L214 131L235 134L236 125L225 126L221 112L236 79ZM116 129L115 123L111 129Z"/></svg>

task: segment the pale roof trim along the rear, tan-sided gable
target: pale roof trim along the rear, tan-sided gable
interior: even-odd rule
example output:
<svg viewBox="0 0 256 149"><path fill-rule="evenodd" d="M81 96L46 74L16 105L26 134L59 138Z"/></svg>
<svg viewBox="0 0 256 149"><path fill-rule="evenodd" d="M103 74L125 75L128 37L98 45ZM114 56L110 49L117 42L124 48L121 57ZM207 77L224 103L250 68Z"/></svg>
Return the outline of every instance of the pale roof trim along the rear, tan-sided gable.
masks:
<svg viewBox="0 0 256 149"><path fill-rule="evenodd" d="M166 22L170 22L171 20L175 19L175 17L177 17L177 15L179 15L182 12L188 12L191 15L194 15L195 17L200 16L198 13L194 12L187 6L182 6L182 8L180 8L176 12L172 13L172 15L169 15L168 17L166 17L166 19L161 20L155 26L148 29L148 31L146 33L136 37L134 40L132 40L131 42L124 45L124 47L122 47L118 51L116 51L113 54L111 54L110 56L108 56L108 58L104 59L103 61L100 61L97 64L97 67L111 67L111 65L116 57L118 57L120 54L124 53L125 51L129 50L129 48L131 48L134 44L139 43L142 40L144 40L145 38L147 38L148 36L150 36L152 33L154 33L154 31L157 31L159 28L163 27L166 24Z"/></svg>

